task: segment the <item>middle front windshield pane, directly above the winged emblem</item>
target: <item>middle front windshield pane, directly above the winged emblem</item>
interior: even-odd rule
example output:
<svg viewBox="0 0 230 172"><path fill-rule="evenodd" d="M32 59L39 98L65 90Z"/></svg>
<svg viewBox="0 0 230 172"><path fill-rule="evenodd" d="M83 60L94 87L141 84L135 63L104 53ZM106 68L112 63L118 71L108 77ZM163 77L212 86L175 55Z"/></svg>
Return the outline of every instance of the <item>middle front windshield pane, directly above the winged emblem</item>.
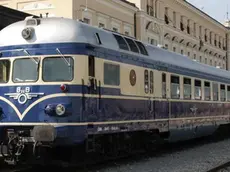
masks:
<svg viewBox="0 0 230 172"><path fill-rule="evenodd" d="M37 81L39 72L39 63L37 61L31 58L16 59L13 64L13 82Z"/></svg>

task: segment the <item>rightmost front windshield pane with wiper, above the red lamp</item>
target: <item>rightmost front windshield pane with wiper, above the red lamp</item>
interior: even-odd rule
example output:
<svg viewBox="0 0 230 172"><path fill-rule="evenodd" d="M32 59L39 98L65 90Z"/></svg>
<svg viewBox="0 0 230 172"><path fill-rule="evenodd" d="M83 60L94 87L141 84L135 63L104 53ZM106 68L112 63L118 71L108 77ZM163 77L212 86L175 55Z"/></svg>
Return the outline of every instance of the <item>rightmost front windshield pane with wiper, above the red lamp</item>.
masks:
<svg viewBox="0 0 230 172"><path fill-rule="evenodd" d="M72 57L46 57L43 60L43 80L46 82L72 81Z"/></svg>

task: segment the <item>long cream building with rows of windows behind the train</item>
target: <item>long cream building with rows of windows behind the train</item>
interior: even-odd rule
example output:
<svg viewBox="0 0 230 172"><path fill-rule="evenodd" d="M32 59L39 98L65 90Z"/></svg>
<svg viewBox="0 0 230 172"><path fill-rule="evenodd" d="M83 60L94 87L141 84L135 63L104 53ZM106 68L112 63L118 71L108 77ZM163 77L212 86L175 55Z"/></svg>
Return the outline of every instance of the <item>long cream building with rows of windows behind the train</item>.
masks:
<svg viewBox="0 0 230 172"><path fill-rule="evenodd" d="M81 19L230 70L230 27L185 0L0 0L0 5L43 17Z"/></svg>

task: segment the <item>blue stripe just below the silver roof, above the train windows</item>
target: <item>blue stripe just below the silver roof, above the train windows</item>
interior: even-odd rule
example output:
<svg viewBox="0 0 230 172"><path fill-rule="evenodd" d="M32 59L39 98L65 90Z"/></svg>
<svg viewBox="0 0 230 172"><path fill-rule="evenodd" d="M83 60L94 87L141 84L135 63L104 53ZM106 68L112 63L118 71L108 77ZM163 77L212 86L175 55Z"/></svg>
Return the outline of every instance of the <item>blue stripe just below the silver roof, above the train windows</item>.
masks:
<svg viewBox="0 0 230 172"><path fill-rule="evenodd" d="M137 55L131 55L120 51L105 49L103 47L94 46L94 48L92 48L92 46L86 43L50 43L6 46L0 47L0 52L2 51L2 57L15 57L24 55L23 52L15 51L16 49L26 49L31 55L57 55L57 52L55 51L56 48L59 48L63 54L94 55L102 59L113 60L130 65L136 65L155 70L161 70L190 77L202 78L230 84L229 78L219 76L217 77L215 75L201 73L196 70L190 70L184 67L158 62L154 60L154 57L152 57L151 59L144 56L139 57ZM12 51L4 52L5 50Z"/></svg>

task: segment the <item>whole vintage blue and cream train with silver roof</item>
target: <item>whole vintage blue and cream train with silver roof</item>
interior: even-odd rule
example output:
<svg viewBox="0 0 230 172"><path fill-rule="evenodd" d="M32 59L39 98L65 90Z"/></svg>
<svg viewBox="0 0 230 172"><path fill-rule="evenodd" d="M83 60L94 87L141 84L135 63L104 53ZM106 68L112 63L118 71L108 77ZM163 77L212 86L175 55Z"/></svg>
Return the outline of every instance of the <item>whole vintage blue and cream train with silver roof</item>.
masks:
<svg viewBox="0 0 230 172"><path fill-rule="evenodd" d="M192 139L230 120L230 72L65 18L0 32L0 88L8 163Z"/></svg>

